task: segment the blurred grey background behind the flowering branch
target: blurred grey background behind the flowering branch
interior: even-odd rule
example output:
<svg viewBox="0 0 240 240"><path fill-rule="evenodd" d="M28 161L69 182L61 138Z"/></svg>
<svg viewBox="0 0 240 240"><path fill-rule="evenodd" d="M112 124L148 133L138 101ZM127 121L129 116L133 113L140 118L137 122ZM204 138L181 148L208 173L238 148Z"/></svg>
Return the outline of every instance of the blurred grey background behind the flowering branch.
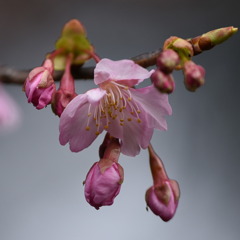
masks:
<svg viewBox="0 0 240 240"><path fill-rule="evenodd" d="M239 27L240 3L164 0L2 0L0 63L18 69L39 66L52 51L63 24L77 18L101 57L114 60L158 49L172 35L194 37ZM147 151L121 156L125 180L114 205L99 211L84 198L82 182L98 160L101 135L80 153L58 142L59 119L51 108L37 111L20 86L6 86L21 107L21 127L0 136L0 239L183 239L238 240L240 234L240 33L194 58L206 69L196 93L183 86L169 100L167 132L153 145L181 199L168 223L145 209L152 185ZM93 87L78 81L78 93Z"/></svg>

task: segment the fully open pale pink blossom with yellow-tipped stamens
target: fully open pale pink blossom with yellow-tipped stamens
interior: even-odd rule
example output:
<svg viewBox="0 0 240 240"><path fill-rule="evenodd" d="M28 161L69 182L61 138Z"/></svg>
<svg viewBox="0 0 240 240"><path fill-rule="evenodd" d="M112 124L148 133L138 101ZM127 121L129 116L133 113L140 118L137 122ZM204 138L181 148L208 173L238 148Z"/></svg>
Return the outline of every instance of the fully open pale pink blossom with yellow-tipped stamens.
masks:
<svg viewBox="0 0 240 240"><path fill-rule="evenodd" d="M75 97L60 117L60 143L78 152L106 130L120 139L121 152L135 156L147 148L154 128L166 130L165 115L172 110L168 96L154 86L132 88L149 78L148 71L131 60L102 59L94 70L99 88Z"/></svg>

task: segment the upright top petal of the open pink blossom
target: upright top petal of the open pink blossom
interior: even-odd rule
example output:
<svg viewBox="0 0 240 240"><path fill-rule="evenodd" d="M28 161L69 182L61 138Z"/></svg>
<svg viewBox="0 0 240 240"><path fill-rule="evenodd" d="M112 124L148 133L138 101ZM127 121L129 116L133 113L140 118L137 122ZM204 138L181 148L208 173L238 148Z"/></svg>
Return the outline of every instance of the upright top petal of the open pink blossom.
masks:
<svg viewBox="0 0 240 240"><path fill-rule="evenodd" d="M104 58L94 70L94 82L99 85L114 80L126 86L133 86L149 78L152 72L134 63L132 60L112 61Z"/></svg>

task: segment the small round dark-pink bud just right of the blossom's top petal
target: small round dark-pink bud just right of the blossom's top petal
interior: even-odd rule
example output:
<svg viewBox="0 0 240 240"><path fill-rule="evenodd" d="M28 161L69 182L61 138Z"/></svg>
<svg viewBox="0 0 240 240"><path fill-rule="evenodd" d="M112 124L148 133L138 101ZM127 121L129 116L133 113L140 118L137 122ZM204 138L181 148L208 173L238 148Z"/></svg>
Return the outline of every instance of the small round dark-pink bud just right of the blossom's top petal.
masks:
<svg viewBox="0 0 240 240"><path fill-rule="evenodd" d="M172 93L175 89L175 82L171 74L166 74L160 70L156 70L151 75L153 85L162 93Z"/></svg>

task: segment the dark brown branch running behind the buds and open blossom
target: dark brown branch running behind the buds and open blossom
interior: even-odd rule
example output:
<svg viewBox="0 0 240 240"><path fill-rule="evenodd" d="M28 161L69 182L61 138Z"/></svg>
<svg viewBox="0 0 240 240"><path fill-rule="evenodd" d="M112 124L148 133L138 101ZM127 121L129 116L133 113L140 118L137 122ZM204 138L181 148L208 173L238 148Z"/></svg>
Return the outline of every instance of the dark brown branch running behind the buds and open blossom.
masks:
<svg viewBox="0 0 240 240"><path fill-rule="evenodd" d="M161 50L156 50L151 53L140 54L136 57L131 58L137 64L142 67L150 67L156 64L157 56ZM0 81L7 84L18 84L22 85L27 78L30 70L16 70L9 66L0 66ZM94 67L81 67L79 65L72 66L72 75L75 79L93 79ZM59 81L63 71L54 72L54 80Z"/></svg>

